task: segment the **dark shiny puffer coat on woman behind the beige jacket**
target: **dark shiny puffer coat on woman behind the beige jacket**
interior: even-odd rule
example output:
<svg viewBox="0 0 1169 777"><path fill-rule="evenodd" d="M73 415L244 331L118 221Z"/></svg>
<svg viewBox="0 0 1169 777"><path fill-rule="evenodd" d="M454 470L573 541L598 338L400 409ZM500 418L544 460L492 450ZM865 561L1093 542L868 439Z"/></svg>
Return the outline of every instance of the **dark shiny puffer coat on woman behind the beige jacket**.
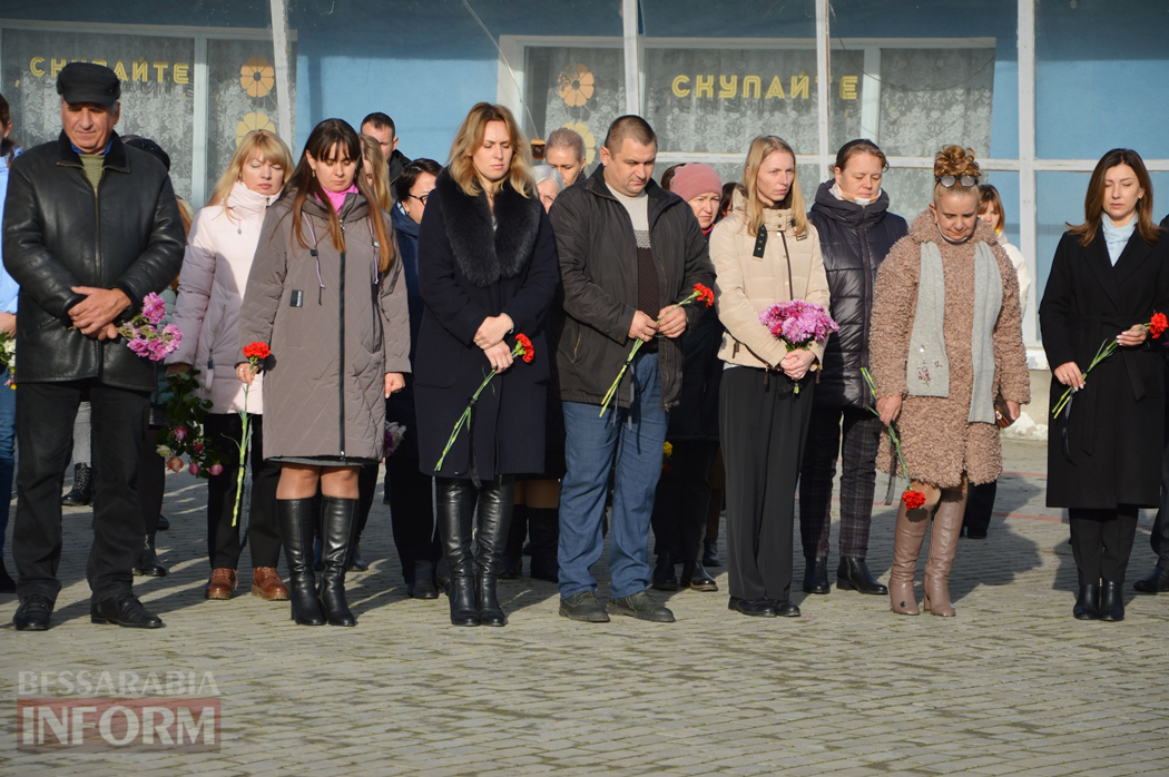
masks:
<svg viewBox="0 0 1169 777"><path fill-rule="evenodd" d="M877 268L893 243L909 231L888 213L888 194L859 206L832 194L833 180L819 185L808 217L819 233L819 250L831 294L830 313L841 331L828 339L812 403L817 408L864 408L873 403L860 368L869 366L869 329Z"/></svg>

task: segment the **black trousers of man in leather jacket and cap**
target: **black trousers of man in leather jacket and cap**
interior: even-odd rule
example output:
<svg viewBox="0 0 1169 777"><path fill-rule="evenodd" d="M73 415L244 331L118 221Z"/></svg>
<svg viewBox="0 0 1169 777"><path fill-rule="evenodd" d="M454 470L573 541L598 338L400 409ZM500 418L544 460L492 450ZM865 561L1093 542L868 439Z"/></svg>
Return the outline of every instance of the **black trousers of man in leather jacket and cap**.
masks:
<svg viewBox="0 0 1169 777"><path fill-rule="evenodd" d="M131 570L143 547L137 480L150 393L96 380L21 383L13 557L22 599L42 594L55 602L61 592L61 491L77 405L87 397L94 408L94 543L85 577L97 601L131 590Z"/></svg>

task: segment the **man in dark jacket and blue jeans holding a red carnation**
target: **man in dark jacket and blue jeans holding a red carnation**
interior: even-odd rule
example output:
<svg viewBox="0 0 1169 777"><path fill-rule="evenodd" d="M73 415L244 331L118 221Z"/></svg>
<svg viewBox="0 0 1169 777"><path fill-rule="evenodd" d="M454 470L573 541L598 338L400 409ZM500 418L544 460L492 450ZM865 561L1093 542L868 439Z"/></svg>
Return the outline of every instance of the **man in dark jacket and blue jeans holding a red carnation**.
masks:
<svg viewBox="0 0 1169 777"><path fill-rule="evenodd" d="M565 189L549 216L556 234L565 321L556 349L567 473L560 495L560 613L604 622L589 568L601 557L606 484L614 471L608 613L670 623L655 602L649 537L669 409L682 388L678 337L699 311L675 307L711 285L706 240L686 202L650 178L657 138L644 119L613 123L602 167ZM660 338L658 335L662 335ZM602 411L635 341L645 345Z"/></svg>

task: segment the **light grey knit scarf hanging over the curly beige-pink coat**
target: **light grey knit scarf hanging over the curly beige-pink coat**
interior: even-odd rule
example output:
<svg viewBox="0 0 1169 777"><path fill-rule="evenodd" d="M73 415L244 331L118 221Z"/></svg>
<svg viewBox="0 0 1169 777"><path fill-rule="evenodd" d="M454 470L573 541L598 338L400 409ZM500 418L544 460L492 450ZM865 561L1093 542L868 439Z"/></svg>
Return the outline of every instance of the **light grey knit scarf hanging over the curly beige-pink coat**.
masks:
<svg viewBox="0 0 1169 777"><path fill-rule="evenodd" d="M995 324L1003 306L1003 283L990 247L974 244L974 326L970 332L969 423L995 423ZM949 396L949 360L942 325L946 320L946 277L935 243L921 244L918 308L909 335L905 384L909 396Z"/></svg>

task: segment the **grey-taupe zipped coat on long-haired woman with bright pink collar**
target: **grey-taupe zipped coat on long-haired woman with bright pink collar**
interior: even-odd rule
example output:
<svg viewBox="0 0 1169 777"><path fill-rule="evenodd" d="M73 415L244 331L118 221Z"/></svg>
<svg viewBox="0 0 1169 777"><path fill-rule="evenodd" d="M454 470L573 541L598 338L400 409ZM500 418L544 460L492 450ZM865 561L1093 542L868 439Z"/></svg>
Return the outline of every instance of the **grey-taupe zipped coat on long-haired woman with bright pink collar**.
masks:
<svg viewBox="0 0 1169 777"><path fill-rule="evenodd" d="M243 346L272 351L264 375L264 453L380 459L386 373L410 372L406 283L395 248L378 272L369 208L350 194L340 217L346 251L328 234L328 214L310 197L302 229L317 256L295 241L292 194L268 209L240 318ZM386 233L393 235L389 217ZM316 238L314 238L316 235Z"/></svg>

